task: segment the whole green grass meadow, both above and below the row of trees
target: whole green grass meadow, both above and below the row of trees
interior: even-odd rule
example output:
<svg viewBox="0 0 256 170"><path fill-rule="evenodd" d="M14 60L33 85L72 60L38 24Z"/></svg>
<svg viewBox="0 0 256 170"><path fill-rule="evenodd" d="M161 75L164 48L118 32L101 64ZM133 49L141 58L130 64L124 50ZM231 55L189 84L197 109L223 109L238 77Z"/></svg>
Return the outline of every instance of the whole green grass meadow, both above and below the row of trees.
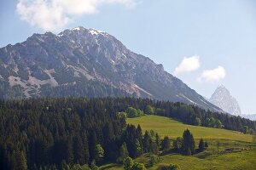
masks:
<svg viewBox="0 0 256 170"><path fill-rule="evenodd" d="M140 124L143 131L153 129L159 133L161 138L165 135L171 139L181 137L183 130L189 128L195 137L196 147L199 139L207 140L209 148L195 154L194 156L182 156L180 154L169 154L160 156L160 161L148 169L155 170L161 165L177 164L182 170L253 170L256 169L256 144L252 143L252 136L235 131L211 128L197 127L177 122L173 119L163 116L141 116L137 118L128 118L127 123ZM217 147L217 143L219 146ZM236 148L240 150L227 149ZM137 162L148 164L149 155L137 157ZM124 169L116 164L108 164L101 169Z"/></svg>

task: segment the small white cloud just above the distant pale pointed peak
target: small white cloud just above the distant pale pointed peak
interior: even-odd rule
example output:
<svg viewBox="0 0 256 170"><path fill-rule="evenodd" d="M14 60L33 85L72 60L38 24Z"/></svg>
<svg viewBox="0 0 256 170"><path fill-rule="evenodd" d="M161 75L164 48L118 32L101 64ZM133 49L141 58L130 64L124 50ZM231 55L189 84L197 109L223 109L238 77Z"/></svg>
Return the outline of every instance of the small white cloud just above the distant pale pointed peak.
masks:
<svg viewBox="0 0 256 170"><path fill-rule="evenodd" d="M197 80L199 82L217 82L224 79L225 76L226 71L224 70L224 67L218 66L216 69L203 71Z"/></svg>

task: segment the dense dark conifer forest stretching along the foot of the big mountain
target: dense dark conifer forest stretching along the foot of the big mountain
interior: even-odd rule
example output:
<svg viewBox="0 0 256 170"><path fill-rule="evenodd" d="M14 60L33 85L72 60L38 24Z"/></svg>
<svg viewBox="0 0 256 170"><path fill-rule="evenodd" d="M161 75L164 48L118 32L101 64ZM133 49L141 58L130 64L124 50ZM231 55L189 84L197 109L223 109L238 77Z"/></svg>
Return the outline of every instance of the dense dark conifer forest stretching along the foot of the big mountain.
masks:
<svg viewBox="0 0 256 170"><path fill-rule="evenodd" d="M157 133L126 125L130 107L181 122L255 131L256 123L241 117L204 111L194 105L135 98L0 100L0 164L3 169L39 169L118 161L121 148L132 158L157 152ZM129 110L129 109L128 109ZM132 110L132 109L131 109ZM213 127L214 127L213 123ZM53 167L54 168L54 167Z"/></svg>

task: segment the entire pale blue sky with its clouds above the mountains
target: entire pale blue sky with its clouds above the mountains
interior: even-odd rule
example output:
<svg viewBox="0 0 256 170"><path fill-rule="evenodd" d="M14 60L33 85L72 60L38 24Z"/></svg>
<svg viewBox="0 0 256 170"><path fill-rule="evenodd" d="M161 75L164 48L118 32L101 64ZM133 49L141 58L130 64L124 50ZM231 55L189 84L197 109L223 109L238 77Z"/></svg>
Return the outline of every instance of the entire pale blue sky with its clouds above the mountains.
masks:
<svg viewBox="0 0 256 170"><path fill-rule="evenodd" d="M117 37L132 51L163 64L166 71L203 96L210 97L219 84L224 84L244 114L256 113L253 0L33 2L37 3L1 2L0 47L23 42L35 32L58 33L76 26L96 28Z"/></svg>

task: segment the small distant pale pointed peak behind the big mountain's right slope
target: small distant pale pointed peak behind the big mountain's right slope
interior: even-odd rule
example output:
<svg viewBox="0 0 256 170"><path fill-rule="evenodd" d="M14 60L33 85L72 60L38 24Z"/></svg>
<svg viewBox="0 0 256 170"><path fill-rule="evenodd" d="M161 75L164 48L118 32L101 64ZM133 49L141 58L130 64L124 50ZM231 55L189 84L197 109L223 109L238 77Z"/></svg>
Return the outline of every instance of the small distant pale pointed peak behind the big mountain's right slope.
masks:
<svg viewBox="0 0 256 170"><path fill-rule="evenodd" d="M209 101L231 115L241 116L241 109L237 100L224 85L218 86Z"/></svg>

